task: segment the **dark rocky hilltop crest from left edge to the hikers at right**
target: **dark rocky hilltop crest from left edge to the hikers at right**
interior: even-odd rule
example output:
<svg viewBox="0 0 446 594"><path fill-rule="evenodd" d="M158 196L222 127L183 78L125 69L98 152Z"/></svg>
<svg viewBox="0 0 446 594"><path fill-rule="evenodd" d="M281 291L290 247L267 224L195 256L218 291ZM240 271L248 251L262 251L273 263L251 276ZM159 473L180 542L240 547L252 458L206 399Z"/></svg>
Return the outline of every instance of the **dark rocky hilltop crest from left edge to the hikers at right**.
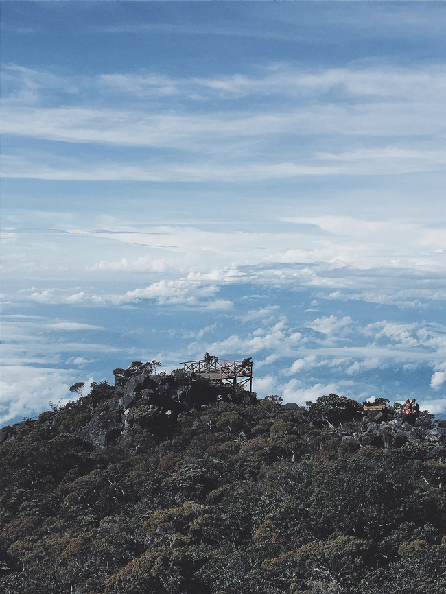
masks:
<svg viewBox="0 0 446 594"><path fill-rule="evenodd" d="M75 431L70 432L98 450L123 445L130 429L135 427L154 436L168 434L182 416L212 403L249 405L259 402L255 393L237 386L186 375L183 370L174 370L170 375L157 374L152 364L141 361L134 361L127 369L117 368L113 374L115 385L93 384L88 396L63 407L65 411L72 408L77 413ZM280 400L277 396L270 398ZM446 420L436 420L427 411L420 412L415 423L410 424L403 418L397 403L381 411L364 411L355 401L330 394L322 396L316 404L308 404L305 408L287 403L281 411L300 433L304 426L305 430L311 430L321 424L331 425L333 433L342 440L342 453L353 453L366 446L382 448L386 453L390 447L399 448L408 443L430 444L433 447L430 456L441 462L446 460ZM333 410L337 413L336 426L330 422ZM38 420L23 420L12 427L3 427L0 444L27 433L35 425L51 427L58 414L58 409L47 411L40 414ZM359 423L361 417L362 423ZM350 423L352 418L355 423Z"/></svg>

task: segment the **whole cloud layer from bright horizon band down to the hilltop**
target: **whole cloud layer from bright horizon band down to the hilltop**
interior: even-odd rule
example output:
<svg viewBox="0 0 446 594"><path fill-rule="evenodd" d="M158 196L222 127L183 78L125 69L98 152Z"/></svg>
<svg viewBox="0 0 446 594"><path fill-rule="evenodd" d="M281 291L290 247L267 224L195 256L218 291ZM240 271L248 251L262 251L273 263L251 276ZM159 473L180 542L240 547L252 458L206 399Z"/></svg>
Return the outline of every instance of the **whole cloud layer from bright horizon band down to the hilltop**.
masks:
<svg viewBox="0 0 446 594"><path fill-rule="evenodd" d="M94 239L89 250L75 252L73 265L67 260L67 278L76 276L77 285L54 283L63 274L55 274L45 252L47 272L26 281L28 288L5 294L12 313L50 306L62 308L63 315L5 318L3 416L10 418L21 407L22 416L29 416L38 407L32 408L34 401L43 405L66 397L70 382L110 378L107 361L126 366L144 359L139 348L167 370L207 350L228 359L253 355L259 396L277 393L305 403L327 392L364 400L384 393L391 400L413 395L425 406L432 399L436 412L442 412L446 328L438 312L446 301L446 283L441 230L427 220L333 216L272 223L269 232L155 226L130 233L129 222L124 229L110 226L91 233L77 227L73 217L65 220L68 237ZM290 225L300 233L291 233ZM20 240L12 243L17 253L30 235L19 229L12 235ZM126 255L100 259L110 241L116 254ZM39 249L44 246L33 243L34 257ZM92 254L99 256L93 263ZM154 280L160 276L163 280ZM36 283L33 288L31 283ZM356 313L355 307L361 310ZM126 322L117 341L110 331L128 308L139 321ZM163 346L156 346L157 335L146 327L145 311L159 318ZM191 318L189 329L180 333L178 326L191 316L195 321ZM138 333L154 337L155 353L143 343L128 346ZM16 371L21 365L23 377L34 370L40 382L32 396L24 395ZM44 396L37 396L39 390Z"/></svg>

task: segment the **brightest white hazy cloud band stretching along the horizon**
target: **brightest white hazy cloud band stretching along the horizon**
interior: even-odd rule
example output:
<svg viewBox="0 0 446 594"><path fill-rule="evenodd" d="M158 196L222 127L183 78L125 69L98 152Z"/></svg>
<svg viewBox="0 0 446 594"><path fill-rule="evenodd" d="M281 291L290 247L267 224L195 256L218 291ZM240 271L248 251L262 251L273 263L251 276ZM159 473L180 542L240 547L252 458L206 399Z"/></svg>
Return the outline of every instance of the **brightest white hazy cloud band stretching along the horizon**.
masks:
<svg viewBox="0 0 446 594"><path fill-rule="evenodd" d="M241 206L243 213L243 206ZM244 213L243 213L244 214ZM38 212L35 213L38 219ZM58 228L29 230L20 213L5 212L3 266L21 276L33 270L84 268L86 272L162 275L166 280L232 282L276 276L331 286L333 289L373 289L395 277L395 283L410 278L414 289L444 288L446 232L438 218L364 220L360 217L329 216L272 219L270 229L219 230L204 226L154 226L143 220L119 222L109 217L108 229L98 231L82 222L63 222ZM93 226L94 225L94 226ZM135 226L139 229L135 232ZM293 231L295 228L295 231ZM67 234L61 239L61 234ZM45 238L45 241L43 241ZM86 243L88 242L88 243ZM88 245L88 249L86 246ZM49 246L53 249L48 250ZM116 254L110 259L110 253ZM123 255L124 254L124 255ZM104 256L108 258L105 259ZM307 265L307 266L305 266ZM253 268L255 267L255 268ZM305 278L307 276L307 278ZM325 277L325 281L322 278ZM382 278L376 283L375 278ZM93 278L93 275L92 275ZM427 285L429 278L429 285ZM371 281L373 279L373 281ZM331 283L331 284L330 284ZM397 289L397 287L394 287ZM407 287L408 288L408 287ZM434 290L432 290L434 294Z"/></svg>

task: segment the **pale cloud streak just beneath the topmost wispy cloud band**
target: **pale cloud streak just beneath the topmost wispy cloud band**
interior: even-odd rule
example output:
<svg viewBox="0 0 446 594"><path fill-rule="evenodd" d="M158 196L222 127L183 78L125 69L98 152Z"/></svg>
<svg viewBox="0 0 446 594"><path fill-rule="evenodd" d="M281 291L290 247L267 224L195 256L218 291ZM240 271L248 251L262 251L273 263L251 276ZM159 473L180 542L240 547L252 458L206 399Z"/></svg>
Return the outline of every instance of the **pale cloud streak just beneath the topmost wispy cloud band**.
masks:
<svg viewBox="0 0 446 594"><path fill-rule="evenodd" d="M301 134L384 138L441 134L440 122L444 115L443 104L403 102L390 102L386 106L327 103L294 110L265 108L261 113L215 112L199 117L192 113L166 115L111 107L18 108L6 102L3 134L70 143L173 147L198 152L200 143L209 148L228 141L238 145L244 139L263 139L266 143L277 141L274 139L277 134L282 136L281 143ZM404 156L402 148L400 145L399 157ZM388 156L388 152L382 154L383 158L386 154ZM319 152L319 155L324 153ZM414 153L410 156L413 158Z"/></svg>

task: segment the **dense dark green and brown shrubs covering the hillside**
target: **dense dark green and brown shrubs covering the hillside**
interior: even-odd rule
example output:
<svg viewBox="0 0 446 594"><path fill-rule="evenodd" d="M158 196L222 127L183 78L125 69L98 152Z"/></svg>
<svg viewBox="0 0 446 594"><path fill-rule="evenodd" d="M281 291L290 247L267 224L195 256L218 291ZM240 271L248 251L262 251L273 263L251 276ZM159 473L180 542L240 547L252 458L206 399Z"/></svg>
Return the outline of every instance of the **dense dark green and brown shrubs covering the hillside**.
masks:
<svg viewBox="0 0 446 594"><path fill-rule="evenodd" d="M446 593L443 421L232 388L161 416L144 395L125 409L117 371L3 430L2 593ZM157 381L173 398L192 380ZM97 444L113 414L124 429Z"/></svg>

